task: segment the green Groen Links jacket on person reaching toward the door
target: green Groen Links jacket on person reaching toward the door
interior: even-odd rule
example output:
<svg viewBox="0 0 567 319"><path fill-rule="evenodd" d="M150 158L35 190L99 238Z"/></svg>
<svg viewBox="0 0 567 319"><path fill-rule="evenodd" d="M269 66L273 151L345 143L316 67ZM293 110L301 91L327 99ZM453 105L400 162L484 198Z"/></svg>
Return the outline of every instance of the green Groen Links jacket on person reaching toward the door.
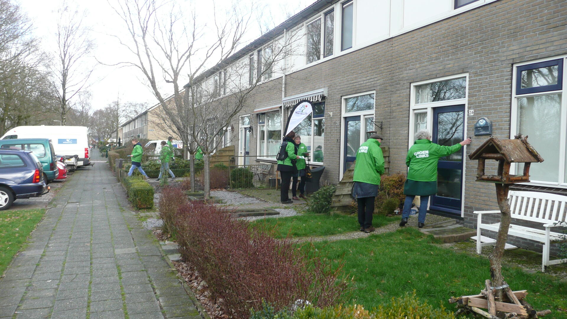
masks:
<svg viewBox="0 0 567 319"><path fill-rule="evenodd" d="M405 165L409 167L408 179L418 182L437 181L437 162L439 157L458 152L460 144L441 146L430 140L417 140L408 150Z"/></svg>

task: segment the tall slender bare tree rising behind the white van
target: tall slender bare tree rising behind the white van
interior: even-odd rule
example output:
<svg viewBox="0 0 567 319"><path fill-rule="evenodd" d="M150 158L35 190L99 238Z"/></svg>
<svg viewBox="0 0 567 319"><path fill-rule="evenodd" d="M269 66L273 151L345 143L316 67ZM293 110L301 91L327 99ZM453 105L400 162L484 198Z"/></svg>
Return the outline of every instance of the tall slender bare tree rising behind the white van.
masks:
<svg viewBox="0 0 567 319"><path fill-rule="evenodd" d="M67 112L73 105L71 101L89 85L94 70L94 65L89 62L89 54L95 45L88 29L83 25L84 13L80 14L65 4L57 12L60 18L57 21L53 85L57 87L61 124L65 125Z"/></svg>

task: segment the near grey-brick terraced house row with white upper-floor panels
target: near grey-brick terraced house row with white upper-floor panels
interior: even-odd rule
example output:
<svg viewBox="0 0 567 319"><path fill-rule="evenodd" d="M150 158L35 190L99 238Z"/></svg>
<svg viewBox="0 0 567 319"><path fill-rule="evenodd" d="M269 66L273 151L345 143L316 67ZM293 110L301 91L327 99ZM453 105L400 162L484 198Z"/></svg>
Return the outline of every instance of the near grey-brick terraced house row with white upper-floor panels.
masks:
<svg viewBox="0 0 567 319"><path fill-rule="evenodd" d="M270 64L278 39L297 40ZM467 158L489 136L475 136L481 117L498 138L527 135L545 159L514 189L567 193L566 58L565 0L320 0L229 58L246 65L250 83L262 78L225 138L239 164L275 163L290 108L311 100L313 114L295 131L312 165L325 166L323 180L338 183L366 132L384 137L389 171L402 174L418 130L442 145L472 137L439 162L430 210L474 228L473 211L497 209L494 186L475 181ZM226 72L204 76L226 93Z"/></svg>

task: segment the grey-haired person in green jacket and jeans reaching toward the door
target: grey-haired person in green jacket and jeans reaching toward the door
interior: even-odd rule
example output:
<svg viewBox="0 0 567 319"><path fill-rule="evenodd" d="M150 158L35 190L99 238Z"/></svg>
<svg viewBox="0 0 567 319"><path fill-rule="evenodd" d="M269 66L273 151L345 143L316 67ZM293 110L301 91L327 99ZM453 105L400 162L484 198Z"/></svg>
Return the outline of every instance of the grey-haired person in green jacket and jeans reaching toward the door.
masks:
<svg viewBox="0 0 567 319"><path fill-rule="evenodd" d="M465 145L471 144L471 138L452 146L443 146L431 142L429 131L422 129L416 133L416 141L408 150L405 165L409 167L408 178L404 184L404 210L401 214L400 226L408 223L409 211L413 199L420 196L420 209L417 217L417 226L425 226L425 215L429 203L429 196L437 193L437 162L443 156L459 152Z"/></svg>

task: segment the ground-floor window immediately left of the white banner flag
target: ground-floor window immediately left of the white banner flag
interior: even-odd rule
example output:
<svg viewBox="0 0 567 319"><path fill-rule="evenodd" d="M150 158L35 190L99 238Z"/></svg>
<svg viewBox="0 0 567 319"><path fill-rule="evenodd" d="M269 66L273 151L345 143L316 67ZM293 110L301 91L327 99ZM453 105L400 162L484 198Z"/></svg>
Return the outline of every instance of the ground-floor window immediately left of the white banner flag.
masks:
<svg viewBox="0 0 567 319"><path fill-rule="evenodd" d="M280 111L258 115L258 157L275 159L281 143Z"/></svg>

